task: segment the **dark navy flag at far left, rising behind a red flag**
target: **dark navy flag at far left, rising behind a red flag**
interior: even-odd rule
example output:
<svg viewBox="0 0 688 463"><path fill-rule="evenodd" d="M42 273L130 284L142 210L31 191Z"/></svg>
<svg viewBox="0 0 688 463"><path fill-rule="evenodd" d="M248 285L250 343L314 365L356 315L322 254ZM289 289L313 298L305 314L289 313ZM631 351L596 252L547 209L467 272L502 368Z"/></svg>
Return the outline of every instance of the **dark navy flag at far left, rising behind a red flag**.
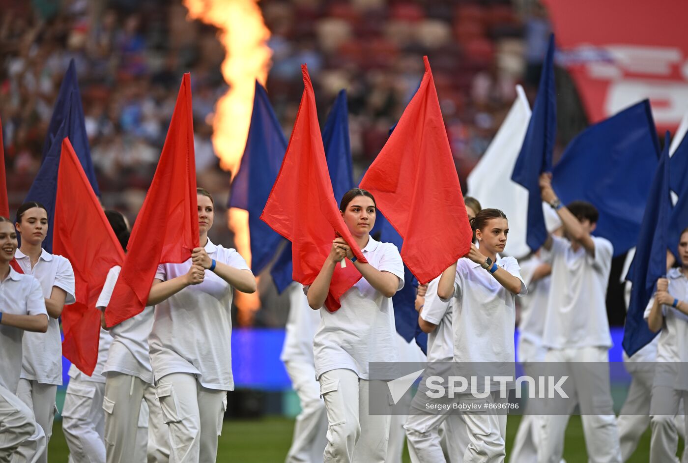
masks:
<svg viewBox="0 0 688 463"><path fill-rule="evenodd" d="M28 195L24 202L40 202L47 209L48 233L43 241L43 248L52 252L52 225L55 216L55 197L57 194L57 169L60 165L62 153L62 140L69 138L74 147L74 152L86 177L96 195L100 195L96 173L91 160L88 136L84 122L84 111L81 105L81 96L76 81L76 69L74 60L69 62L60 86L57 103L50 120L50 126L45 138L43 160L41 168L36 174Z"/></svg>

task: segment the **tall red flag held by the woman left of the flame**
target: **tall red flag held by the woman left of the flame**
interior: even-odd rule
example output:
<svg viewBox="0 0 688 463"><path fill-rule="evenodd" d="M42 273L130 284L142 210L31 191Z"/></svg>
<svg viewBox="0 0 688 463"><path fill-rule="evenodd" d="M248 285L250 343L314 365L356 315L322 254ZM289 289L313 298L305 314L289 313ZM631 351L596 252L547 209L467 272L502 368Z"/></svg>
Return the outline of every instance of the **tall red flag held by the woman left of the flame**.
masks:
<svg viewBox="0 0 688 463"><path fill-rule="evenodd" d="M108 326L140 314L158 263L182 263L198 242L191 77L184 74L153 182L131 231L127 257L105 310Z"/></svg>

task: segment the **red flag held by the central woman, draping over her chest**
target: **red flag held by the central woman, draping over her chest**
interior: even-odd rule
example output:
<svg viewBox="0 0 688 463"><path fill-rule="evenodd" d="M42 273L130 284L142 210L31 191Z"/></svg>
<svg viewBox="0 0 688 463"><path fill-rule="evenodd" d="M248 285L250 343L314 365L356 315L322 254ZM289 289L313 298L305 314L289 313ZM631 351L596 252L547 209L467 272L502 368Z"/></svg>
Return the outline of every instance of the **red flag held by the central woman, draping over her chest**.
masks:
<svg viewBox="0 0 688 463"><path fill-rule="evenodd" d="M310 285L330 254L335 232L351 246L357 259L367 261L344 224L334 199L313 86L305 65L301 66L301 72L304 88L294 131L260 218L292 242L292 277ZM346 268L336 266L325 301L327 310L337 310L341 295L359 279L361 272L353 263Z"/></svg>

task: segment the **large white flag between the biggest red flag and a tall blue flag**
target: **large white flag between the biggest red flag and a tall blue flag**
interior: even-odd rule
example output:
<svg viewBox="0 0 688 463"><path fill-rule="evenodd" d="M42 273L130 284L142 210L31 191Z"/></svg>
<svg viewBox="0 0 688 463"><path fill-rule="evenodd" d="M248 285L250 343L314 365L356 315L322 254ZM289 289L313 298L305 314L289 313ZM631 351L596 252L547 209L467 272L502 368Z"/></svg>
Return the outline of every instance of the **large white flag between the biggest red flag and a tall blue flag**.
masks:
<svg viewBox="0 0 688 463"><path fill-rule="evenodd" d="M468 195L484 208L504 211L509 222L505 255L524 257L530 252L526 244L528 190L511 180L521 145L530 121L530 105L523 87L516 86L516 100L495 138L467 179Z"/></svg>

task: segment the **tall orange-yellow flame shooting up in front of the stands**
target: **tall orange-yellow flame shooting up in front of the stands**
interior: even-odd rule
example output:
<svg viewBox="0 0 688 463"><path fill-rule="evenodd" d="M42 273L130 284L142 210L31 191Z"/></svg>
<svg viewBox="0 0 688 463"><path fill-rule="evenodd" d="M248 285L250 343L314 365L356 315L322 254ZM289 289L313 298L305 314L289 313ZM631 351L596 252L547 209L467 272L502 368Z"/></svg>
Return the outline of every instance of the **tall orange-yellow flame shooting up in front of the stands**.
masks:
<svg viewBox="0 0 688 463"><path fill-rule="evenodd" d="M189 16L219 29L219 41L226 50L222 76L230 89L217 101L213 116L213 146L220 166L236 175L244 154L253 109L255 80L265 83L272 51L266 45L270 31L263 21L257 0L184 0ZM250 266L248 213L231 208L228 226L235 233L239 253ZM258 292L237 292L239 324L250 324L260 307Z"/></svg>

